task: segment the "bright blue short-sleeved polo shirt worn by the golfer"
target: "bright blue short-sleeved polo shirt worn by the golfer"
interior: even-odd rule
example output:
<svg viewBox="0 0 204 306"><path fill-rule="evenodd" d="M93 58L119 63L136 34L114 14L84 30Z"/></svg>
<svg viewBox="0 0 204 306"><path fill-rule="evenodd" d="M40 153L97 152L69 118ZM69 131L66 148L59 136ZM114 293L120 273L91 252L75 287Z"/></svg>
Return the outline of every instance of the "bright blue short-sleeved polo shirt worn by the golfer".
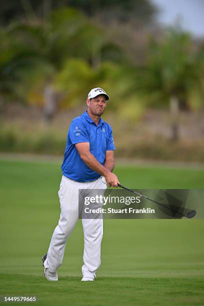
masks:
<svg viewBox="0 0 204 306"><path fill-rule="evenodd" d="M105 151L115 149L111 126L101 118L96 125L86 110L71 121L68 129L61 165L63 175L80 182L95 180L101 175L89 168L80 158L74 145L78 142L89 142L90 152L104 165Z"/></svg>

